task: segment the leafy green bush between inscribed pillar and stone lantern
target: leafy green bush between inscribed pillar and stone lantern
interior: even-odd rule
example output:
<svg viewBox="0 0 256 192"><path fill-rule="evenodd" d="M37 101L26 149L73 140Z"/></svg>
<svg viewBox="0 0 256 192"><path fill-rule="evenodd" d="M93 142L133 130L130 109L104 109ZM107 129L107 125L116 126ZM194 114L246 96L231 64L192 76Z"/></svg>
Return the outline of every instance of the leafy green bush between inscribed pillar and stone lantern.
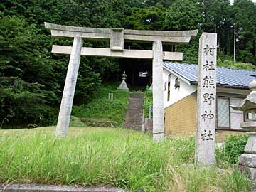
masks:
<svg viewBox="0 0 256 192"><path fill-rule="evenodd" d="M216 150L216 161L225 162L228 164L238 163L238 156L244 153L245 144L248 140L248 135L230 135L225 139L223 147Z"/></svg>

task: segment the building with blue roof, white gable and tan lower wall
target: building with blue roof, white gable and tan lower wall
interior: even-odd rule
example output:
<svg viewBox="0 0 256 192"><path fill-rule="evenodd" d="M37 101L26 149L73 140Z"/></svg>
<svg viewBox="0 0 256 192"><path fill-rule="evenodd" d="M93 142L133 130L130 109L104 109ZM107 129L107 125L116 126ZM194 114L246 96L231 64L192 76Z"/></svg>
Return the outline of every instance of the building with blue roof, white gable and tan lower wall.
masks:
<svg viewBox="0 0 256 192"><path fill-rule="evenodd" d="M250 92L248 85L256 71L217 68L216 141L229 134L242 134L244 114L233 110ZM198 65L164 62L165 134L176 137L196 132Z"/></svg>

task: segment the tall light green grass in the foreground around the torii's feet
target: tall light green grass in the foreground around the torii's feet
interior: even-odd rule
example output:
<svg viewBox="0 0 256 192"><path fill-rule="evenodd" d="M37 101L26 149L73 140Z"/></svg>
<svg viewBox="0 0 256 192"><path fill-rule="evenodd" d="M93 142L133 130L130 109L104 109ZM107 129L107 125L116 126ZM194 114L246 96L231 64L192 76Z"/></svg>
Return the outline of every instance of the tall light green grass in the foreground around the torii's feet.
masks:
<svg viewBox="0 0 256 192"><path fill-rule="evenodd" d="M131 191L249 191L238 171L193 166L194 140L153 142L127 129L0 130L0 183L117 186Z"/></svg>

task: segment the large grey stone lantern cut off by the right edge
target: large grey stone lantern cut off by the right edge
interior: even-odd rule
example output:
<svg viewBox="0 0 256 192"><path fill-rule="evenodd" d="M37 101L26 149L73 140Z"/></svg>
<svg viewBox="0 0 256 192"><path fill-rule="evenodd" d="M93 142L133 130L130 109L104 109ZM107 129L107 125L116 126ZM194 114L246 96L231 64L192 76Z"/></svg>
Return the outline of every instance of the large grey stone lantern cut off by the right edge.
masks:
<svg viewBox="0 0 256 192"><path fill-rule="evenodd" d="M256 188L256 80L250 82L249 88L251 92L245 100L242 100L239 106L230 107L245 114L245 122L241 123L241 127L250 137L244 149L245 154L239 156L238 166L240 171L248 174L253 188Z"/></svg>

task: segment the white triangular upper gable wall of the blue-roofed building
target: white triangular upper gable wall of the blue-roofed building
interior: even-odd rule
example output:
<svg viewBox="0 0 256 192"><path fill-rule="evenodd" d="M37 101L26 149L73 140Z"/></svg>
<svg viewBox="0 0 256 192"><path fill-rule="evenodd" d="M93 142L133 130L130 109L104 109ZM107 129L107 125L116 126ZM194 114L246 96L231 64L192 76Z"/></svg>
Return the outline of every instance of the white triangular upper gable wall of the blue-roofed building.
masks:
<svg viewBox="0 0 256 192"><path fill-rule="evenodd" d="M168 95L168 75L170 72L166 69L164 69L164 85L166 83L166 90L164 89L164 108L169 107L172 105L174 102L177 102L178 100L182 100L184 97L191 95L193 92L196 92L197 86L195 85L188 85L187 82L184 82L180 78L178 78L178 81L180 82L180 87L176 88L174 87L175 85L175 80L177 78L176 75L171 73L171 87L170 87L170 100L167 100L167 95Z"/></svg>

